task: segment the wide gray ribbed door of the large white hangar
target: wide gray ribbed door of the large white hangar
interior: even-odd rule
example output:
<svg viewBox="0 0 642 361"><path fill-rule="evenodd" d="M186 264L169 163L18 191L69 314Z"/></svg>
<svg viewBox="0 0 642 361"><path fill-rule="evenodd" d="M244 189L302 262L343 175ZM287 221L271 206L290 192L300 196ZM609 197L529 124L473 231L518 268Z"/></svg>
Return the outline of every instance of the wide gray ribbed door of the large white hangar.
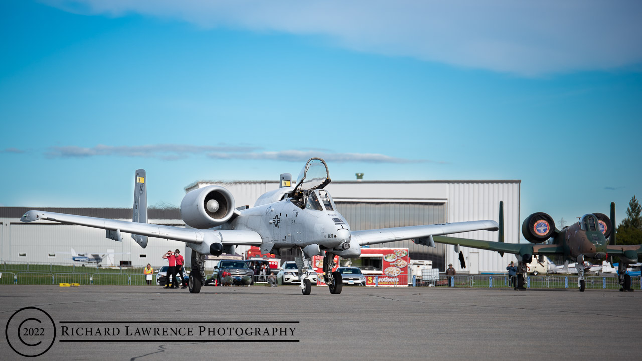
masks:
<svg viewBox="0 0 642 361"><path fill-rule="evenodd" d="M334 203L353 231L446 223L446 203L353 202L336 199ZM437 243L437 248L432 248L405 240L371 247L407 247L411 259L432 260L433 267L444 268L446 246L441 243Z"/></svg>

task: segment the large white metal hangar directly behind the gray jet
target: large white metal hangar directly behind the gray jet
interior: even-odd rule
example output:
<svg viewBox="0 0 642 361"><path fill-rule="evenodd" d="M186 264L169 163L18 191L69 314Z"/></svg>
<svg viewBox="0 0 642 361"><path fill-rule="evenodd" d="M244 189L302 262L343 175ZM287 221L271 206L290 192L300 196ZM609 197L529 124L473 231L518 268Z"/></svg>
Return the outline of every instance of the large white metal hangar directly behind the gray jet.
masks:
<svg viewBox="0 0 642 361"><path fill-rule="evenodd" d="M279 187L278 181L198 181L186 191L217 184L229 189L236 206L254 206L266 191ZM351 229L377 229L405 225L439 224L467 220L498 220L499 201L504 202L505 242L519 242L520 180L435 180L435 181L333 181L325 189L334 198L338 211ZM463 238L497 240L496 232L476 231L453 234ZM412 240L386 243L381 247L408 247L410 258L432 260L445 270L453 263L458 271L505 272L514 256L462 247L467 268L462 269L455 246L437 248L417 245ZM243 250L238 247L238 253Z"/></svg>

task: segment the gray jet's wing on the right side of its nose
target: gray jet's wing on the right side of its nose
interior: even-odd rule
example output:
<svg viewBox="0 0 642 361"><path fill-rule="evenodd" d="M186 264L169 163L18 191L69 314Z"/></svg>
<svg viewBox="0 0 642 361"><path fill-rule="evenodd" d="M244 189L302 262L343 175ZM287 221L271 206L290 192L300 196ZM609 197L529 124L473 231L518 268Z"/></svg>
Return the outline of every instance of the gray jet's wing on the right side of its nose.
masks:
<svg viewBox="0 0 642 361"><path fill-rule="evenodd" d="M377 243L428 238L429 236L440 236L442 234L480 231L482 229L487 231L497 231L497 222L494 220L474 220L470 222L368 229L365 231L351 231L351 236L356 238L360 245L372 245Z"/></svg>

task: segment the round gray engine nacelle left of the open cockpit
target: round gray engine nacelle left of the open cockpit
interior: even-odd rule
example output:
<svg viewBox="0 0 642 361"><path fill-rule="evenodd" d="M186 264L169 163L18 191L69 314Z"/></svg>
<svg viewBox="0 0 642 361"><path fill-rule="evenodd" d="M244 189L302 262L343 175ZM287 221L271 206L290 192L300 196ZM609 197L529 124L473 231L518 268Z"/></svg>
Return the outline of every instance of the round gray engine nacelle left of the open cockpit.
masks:
<svg viewBox="0 0 642 361"><path fill-rule="evenodd" d="M234 214L234 197L221 186L189 191L180 201L180 218L190 227L205 229L223 224Z"/></svg>

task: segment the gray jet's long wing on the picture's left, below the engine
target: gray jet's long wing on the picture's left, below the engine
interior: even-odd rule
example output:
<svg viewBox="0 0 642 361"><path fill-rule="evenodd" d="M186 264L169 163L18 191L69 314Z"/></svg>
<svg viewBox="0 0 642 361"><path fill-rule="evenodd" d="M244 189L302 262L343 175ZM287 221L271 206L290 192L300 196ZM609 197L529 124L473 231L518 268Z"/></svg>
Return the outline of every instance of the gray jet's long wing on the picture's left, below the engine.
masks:
<svg viewBox="0 0 642 361"><path fill-rule="evenodd" d="M116 234L120 232L141 234L167 240L176 240L186 243L200 244L205 234L214 233L220 238L223 245L261 245L261 236L254 231L238 229L193 229L173 227L171 225L159 225L150 223L129 222L125 220L112 220L109 218L98 218L90 216L67 215L46 211L27 211L20 218L22 222L33 222L35 220L51 220L64 224L78 224L87 227L101 228ZM122 240L122 236L119 236Z"/></svg>

